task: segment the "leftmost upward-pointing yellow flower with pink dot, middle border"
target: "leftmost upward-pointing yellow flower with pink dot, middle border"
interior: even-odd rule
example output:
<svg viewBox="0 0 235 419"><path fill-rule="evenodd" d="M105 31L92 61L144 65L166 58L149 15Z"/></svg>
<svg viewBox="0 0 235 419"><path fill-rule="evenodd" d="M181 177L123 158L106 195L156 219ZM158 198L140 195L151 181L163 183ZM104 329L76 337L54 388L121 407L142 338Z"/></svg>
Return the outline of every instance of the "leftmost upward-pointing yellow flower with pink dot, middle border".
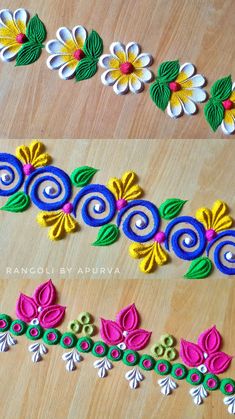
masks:
<svg viewBox="0 0 235 419"><path fill-rule="evenodd" d="M24 163L23 170L25 175L32 173L38 167L46 166L50 163L51 157L44 153L45 146L37 140L31 142L29 146L21 145L16 149L16 157Z"/></svg>

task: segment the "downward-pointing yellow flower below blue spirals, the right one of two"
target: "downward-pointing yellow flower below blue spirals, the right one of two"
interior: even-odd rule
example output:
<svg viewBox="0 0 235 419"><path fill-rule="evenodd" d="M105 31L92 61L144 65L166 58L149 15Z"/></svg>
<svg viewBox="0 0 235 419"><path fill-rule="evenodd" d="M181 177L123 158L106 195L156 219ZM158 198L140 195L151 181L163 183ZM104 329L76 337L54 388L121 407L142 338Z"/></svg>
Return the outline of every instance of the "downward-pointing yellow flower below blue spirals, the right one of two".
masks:
<svg viewBox="0 0 235 419"><path fill-rule="evenodd" d="M157 241L158 234L160 237L159 241ZM163 236L164 233L159 232L156 234L156 240L153 243L147 245L143 243L132 243L130 245L130 255L134 259L143 259L139 264L141 272L153 272L158 265L161 266L167 263L167 253L161 246L161 242L163 242Z"/></svg>

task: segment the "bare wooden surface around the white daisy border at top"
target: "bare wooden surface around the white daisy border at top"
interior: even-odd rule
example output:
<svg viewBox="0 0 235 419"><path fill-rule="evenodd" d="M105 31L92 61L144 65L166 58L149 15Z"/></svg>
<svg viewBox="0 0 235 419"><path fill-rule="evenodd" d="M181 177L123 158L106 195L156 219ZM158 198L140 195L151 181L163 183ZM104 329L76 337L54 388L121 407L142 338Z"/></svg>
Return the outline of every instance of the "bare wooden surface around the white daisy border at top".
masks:
<svg viewBox="0 0 235 419"><path fill-rule="evenodd" d="M60 26L96 29L108 53L113 41L136 41L154 57L152 69L166 60L196 64L208 78L207 90L227 74L235 77L232 28L234 0L1 0L1 8L38 13L55 38ZM117 97L101 84L102 69L76 84L59 79L46 66L47 52L29 67L0 64L2 138L222 138L212 133L203 107L177 121L155 107L149 87L137 96Z"/></svg>

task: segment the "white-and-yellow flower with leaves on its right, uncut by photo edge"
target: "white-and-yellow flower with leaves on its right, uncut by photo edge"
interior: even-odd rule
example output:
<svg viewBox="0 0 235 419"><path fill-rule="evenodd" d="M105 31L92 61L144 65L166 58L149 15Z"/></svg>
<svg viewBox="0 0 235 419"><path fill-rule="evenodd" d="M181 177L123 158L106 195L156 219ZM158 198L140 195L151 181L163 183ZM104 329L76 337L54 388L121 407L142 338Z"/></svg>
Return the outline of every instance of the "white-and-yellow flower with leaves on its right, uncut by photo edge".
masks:
<svg viewBox="0 0 235 419"><path fill-rule="evenodd" d="M47 59L47 66L50 70L59 70L59 76L67 80L74 76L79 61L85 57L83 47L87 31L83 26L75 26L72 31L62 27L56 37L46 45L47 52L52 54Z"/></svg>

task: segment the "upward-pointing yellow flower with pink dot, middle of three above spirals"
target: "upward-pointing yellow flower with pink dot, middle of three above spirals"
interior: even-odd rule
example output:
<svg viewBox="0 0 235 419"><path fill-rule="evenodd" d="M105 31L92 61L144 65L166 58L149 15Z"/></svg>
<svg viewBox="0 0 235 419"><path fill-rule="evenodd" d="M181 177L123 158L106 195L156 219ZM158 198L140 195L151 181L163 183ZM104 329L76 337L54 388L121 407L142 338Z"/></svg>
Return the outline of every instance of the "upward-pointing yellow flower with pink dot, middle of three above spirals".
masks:
<svg viewBox="0 0 235 419"><path fill-rule="evenodd" d="M121 179L111 178L109 180L107 186L116 198L118 210L125 207L128 201L142 196L143 190L136 182L137 175L134 172L124 173Z"/></svg>

